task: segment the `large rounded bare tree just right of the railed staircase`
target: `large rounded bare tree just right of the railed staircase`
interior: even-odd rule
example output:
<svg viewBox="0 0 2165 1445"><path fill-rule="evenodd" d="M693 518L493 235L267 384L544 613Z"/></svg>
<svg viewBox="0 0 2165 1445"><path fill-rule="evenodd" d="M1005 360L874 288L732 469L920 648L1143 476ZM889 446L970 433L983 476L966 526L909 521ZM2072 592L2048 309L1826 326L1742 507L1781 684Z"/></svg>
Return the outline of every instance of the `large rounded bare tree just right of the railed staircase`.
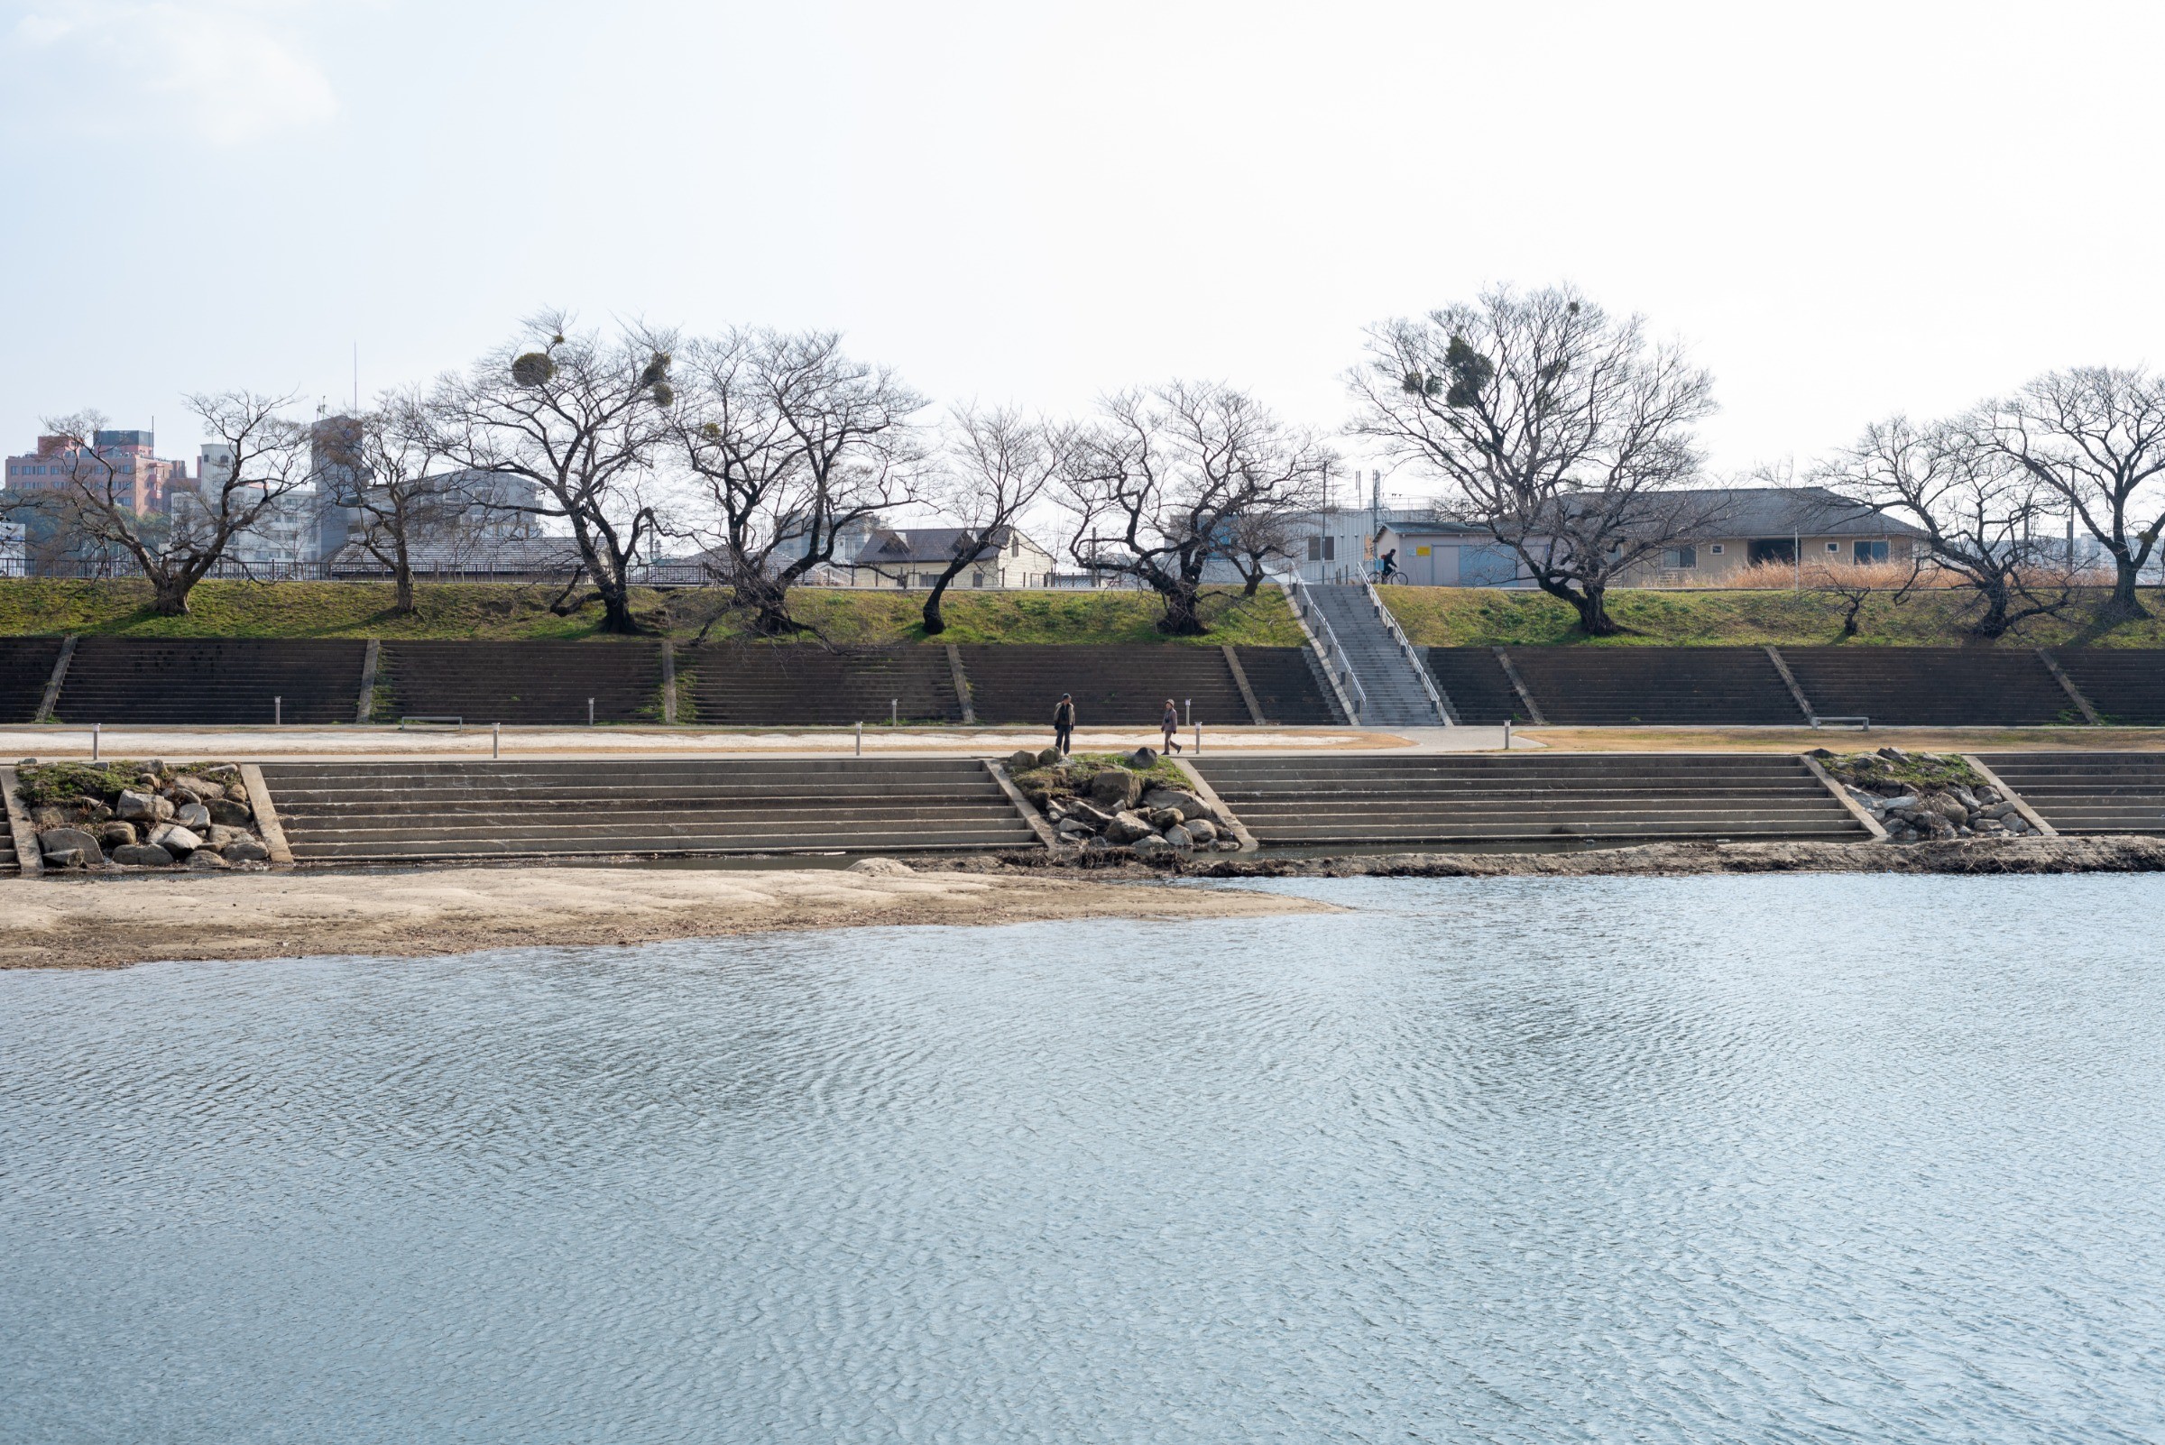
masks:
<svg viewBox="0 0 2165 1445"><path fill-rule="evenodd" d="M1453 493L1440 511L1509 547L1587 636L1622 632L1619 575L1719 521L1719 495L1682 489L1713 379L1574 290L1381 322L1349 381L1353 433L1435 472Z"/></svg>

